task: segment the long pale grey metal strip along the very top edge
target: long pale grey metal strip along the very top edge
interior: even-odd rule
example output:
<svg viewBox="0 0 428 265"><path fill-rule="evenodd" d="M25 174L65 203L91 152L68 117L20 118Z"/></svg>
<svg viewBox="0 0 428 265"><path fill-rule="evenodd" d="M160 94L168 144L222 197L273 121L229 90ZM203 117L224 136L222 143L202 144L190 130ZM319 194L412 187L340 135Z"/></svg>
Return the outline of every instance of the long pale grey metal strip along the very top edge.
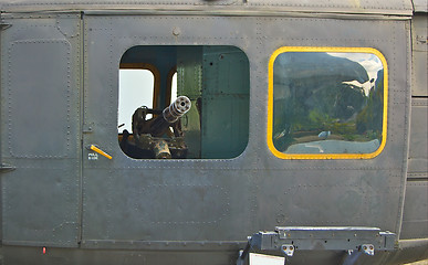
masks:
<svg viewBox="0 0 428 265"><path fill-rule="evenodd" d="M257 9L270 9L271 11L312 11L312 12L349 12L349 13L382 13L411 15L411 0L382 0L382 1L299 1L299 0L158 0L158 1L114 1L104 0L92 2L88 0L2 0L0 9L7 12L35 11L35 10L102 10L102 9L144 9L156 7L187 7L195 10L205 6L209 9L221 6L247 6ZM274 8L274 10L272 9ZM248 9L247 9L248 10Z"/></svg>

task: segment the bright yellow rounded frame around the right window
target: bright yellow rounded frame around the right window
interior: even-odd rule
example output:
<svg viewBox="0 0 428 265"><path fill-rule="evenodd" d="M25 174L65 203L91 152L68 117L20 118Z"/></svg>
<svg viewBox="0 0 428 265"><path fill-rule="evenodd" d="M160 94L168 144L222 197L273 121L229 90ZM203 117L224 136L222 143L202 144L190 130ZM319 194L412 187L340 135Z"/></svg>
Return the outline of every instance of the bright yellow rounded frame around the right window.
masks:
<svg viewBox="0 0 428 265"><path fill-rule="evenodd" d="M276 57L285 52L328 52L328 53L370 53L376 55L384 66L384 106L382 124L382 142L377 150L370 153L284 153L273 145L273 65ZM333 47L333 46L282 46L273 52L269 61L268 71L268 147L271 152L281 159L372 159L377 157L386 146L387 114L388 114L388 67L385 56L373 47Z"/></svg>

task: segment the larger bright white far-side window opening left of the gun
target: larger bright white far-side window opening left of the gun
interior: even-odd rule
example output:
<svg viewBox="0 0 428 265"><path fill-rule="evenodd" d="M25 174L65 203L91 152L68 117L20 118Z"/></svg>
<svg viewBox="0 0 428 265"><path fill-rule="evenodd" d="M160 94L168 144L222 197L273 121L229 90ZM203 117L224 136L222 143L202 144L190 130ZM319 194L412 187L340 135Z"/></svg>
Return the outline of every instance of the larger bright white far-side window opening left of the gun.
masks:
<svg viewBox="0 0 428 265"><path fill-rule="evenodd" d="M155 76L148 70L119 70L119 100L117 127L132 131L132 120L136 108L153 108Z"/></svg>

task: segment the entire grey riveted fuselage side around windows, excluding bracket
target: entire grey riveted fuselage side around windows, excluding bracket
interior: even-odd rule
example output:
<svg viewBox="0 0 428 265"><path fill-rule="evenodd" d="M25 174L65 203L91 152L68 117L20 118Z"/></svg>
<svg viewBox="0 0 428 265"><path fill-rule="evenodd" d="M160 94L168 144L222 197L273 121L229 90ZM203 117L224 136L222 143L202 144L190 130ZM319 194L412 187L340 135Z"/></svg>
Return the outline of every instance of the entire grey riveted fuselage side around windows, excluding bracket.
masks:
<svg viewBox="0 0 428 265"><path fill-rule="evenodd" d="M7 12L31 12L2 13L2 21L11 26L1 32L1 162L15 168L1 174L2 242L71 247L64 253L55 250L58 256L43 259L31 254L36 252L34 248L19 248L31 254L20 257L17 248L3 246L10 251L4 255L7 263L34 258L34 264L72 264L70 261L75 259L86 264L189 264L207 258L207 264L233 264L242 240L259 230L278 225L364 225L399 234L403 211L409 215L404 219L403 237L414 239L415 231L426 224L414 225L424 214L416 208L426 205L413 194L425 195L421 189L426 187L421 186L424 181L409 183L409 200L403 210L408 161L409 169L415 169L408 160L408 137L409 132L420 134L414 128L409 131L411 46L410 21L405 15L411 13L411 7L398 0L387 8L384 1L357 2L2 1L0 7ZM228 4L231 7L225 7ZM208 14L216 6L215 15L198 15ZM115 15L96 11L118 7L124 10ZM93 12L84 12L82 18L81 13L34 14L36 10L70 12L80 8ZM123 15L126 9L144 9L145 13ZM148 13L152 9L156 9L156 15ZM180 12L175 17L174 10L186 10L191 15ZM248 10L264 13L251 18L243 12ZM286 13L289 17L281 18L270 11L290 11L293 17L306 11L317 13L305 13L305 18ZM332 13L340 15L333 18ZM380 15L359 20L364 13ZM116 127L118 64L122 55L137 45L231 45L246 53L250 65L250 126L248 146L239 157L135 160L122 152ZM268 62L281 46L373 47L386 57L388 134L379 156L303 161L282 160L271 153L265 141ZM52 54L56 56L49 57ZM30 64L23 63L24 59ZM49 66L33 73L32 65L42 62ZM41 104L28 96L30 85L21 86L27 83L19 76L28 72L38 91L52 95L43 98L36 94ZM51 80L40 78L50 75ZM416 102L411 118L424 118ZM29 106L22 110L20 105L27 103ZM48 107L55 112L44 110L44 116L53 116L46 120L39 115ZM45 124L53 131L41 126L25 138L21 129L27 124L18 119L32 108L38 112L30 114L31 123ZM44 135L53 142L46 148L45 139L41 139ZM93 159L90 150L82 149L81 140L83 147L96 145L113 159ZM32 145L29 152L25 141ZM422 156L419 146L410 148L415 157ZM116 251L112 254L105 248ZM328 255L331 259L342 258L342 254ZM294 256L296 261L305 258L299 252Z"/></svg>

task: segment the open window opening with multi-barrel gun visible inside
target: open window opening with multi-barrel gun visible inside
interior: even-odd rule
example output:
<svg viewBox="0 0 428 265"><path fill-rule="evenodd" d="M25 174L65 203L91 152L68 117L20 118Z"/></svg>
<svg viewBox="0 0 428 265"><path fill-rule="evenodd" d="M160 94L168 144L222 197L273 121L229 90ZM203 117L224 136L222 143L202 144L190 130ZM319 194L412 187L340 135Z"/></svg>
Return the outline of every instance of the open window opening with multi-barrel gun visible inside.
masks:
<svg viewBox="0 0 428 265"><path fill-rule="evenodd" d="M134 46L121 61L121 65L133 64L153 65L158 74L155 81L129 81L137 87L135 93L124 102L119 96L119 108L132 108L118 121L129 125L118 131L119 146L128 157L230 159L244 150L250 77L249 62L241 50ZM119 95L125 89L129 91L121 81Z"/></svg>

